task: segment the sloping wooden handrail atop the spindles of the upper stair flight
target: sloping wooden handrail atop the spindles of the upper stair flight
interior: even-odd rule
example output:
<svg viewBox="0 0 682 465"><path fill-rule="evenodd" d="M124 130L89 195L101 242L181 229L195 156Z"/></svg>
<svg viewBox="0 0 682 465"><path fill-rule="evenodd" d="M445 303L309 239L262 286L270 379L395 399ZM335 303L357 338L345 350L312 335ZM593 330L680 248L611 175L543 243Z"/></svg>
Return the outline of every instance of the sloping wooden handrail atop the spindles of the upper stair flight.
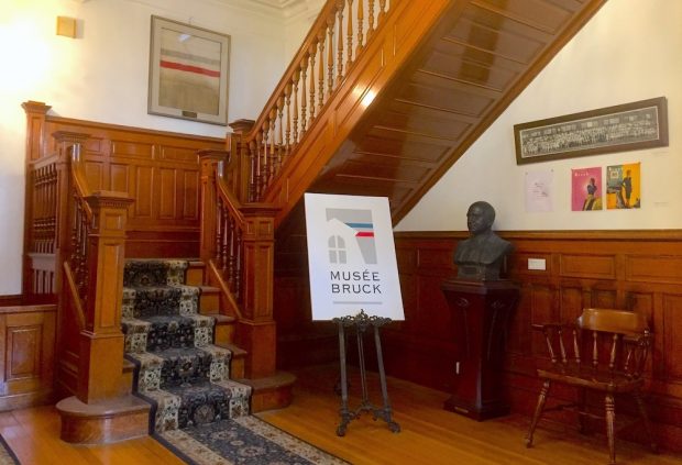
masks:
<svg viewBox="0 0 682 465"><path fill-rule="evenodd" d="M328 26L327 18L329 18L329 15L331 14L334 14L337 12L337 9L338 9L337 0L327 0L324 5L320 10L320 13L318 14L317 19L310 26L310 30L308 31L306 38L304 38L304 42L298 48L298 52L296 52L296 55L294 55L292 63L289 63L289 66L286 68L286 70L282 75L282 78L279 79L277 87L275 87L275 90L270 96L270 99L267 99L267 102L265 103L265 107L263 107L263 111L261 111L261 114L256 119L255 124L253 124L253 128L251 128L249 133L245 134L244 140L251 141L256 136L260 129L263 126L265 121L270 118L270 112L274 108L276 108L277 100L285 93L286 87L290 85L293 76L296 73L300 71L299 70L300 63L304 60L306 54L310 51L310 47L314 47L318 43L319 32L327 29Z"/></svg>

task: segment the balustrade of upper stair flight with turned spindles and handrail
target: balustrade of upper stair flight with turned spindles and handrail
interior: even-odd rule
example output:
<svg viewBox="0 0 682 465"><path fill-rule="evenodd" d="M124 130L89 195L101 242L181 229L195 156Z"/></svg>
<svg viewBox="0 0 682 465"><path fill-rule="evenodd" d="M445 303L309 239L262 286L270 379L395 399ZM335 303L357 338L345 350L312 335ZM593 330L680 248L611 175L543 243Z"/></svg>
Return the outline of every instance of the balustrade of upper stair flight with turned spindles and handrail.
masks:
<svg viewBox="0 0 682 465"><path fill-rule="evenodd" d="M239 136L242 201L258 202L402 0L328 0L255 124ZM238 156L238 154L233 154Z"/></svg>

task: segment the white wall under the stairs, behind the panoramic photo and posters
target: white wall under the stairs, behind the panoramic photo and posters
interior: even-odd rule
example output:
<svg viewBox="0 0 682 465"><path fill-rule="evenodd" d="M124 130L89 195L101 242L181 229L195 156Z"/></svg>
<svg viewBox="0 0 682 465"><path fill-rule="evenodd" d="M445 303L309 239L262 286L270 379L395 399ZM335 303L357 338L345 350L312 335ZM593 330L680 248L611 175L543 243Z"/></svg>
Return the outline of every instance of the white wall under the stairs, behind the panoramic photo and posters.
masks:
<svg viewBox="0 0 682 465"><path fill-rule="evenodd" d="M495 229L682 228L682 1L610 0L396 226L463 231L476 200L495 207ZM668 98L670 146L516 165L514 125ZM571 169L641 162L641 209L571 211ZM553 174L553 211L525 210L527 173ZM605 176L605 174L603 175ZM602 179L604 186L604 178Z"/></svg>

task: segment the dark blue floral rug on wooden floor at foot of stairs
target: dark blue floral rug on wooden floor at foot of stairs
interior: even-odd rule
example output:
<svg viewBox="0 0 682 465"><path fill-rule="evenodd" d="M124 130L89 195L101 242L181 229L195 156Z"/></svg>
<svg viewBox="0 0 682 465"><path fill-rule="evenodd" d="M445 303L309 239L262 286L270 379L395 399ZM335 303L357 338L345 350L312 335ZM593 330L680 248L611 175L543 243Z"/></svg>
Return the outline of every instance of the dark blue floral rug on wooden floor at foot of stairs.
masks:
<svg viewBox="0 0 682 465"><path fill-rule="evenodd" d="M253 416L164 431L154 438L191 465L348 465Z"/></svg>

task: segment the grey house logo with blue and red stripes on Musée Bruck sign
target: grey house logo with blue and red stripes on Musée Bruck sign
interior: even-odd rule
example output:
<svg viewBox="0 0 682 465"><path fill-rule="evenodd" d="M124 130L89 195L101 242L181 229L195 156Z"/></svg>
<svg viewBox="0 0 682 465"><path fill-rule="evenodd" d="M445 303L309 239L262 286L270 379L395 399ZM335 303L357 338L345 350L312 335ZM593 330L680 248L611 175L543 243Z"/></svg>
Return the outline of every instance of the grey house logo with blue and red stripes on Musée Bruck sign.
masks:
<svg viewBox="0 0 682 465"><path fill-rule="evenodd" d="M376 242L372 210L328 208L328 248L331 264L376 265Z"/></svg>

